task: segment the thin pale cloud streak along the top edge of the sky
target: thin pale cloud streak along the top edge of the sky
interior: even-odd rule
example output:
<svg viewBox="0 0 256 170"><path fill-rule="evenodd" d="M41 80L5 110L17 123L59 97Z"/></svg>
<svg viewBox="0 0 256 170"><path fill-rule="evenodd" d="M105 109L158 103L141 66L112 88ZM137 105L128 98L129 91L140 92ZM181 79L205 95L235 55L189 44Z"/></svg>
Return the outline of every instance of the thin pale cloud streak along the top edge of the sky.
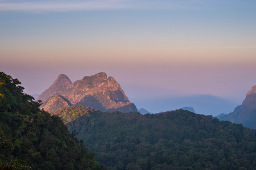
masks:
<svg viewBox="0 0 256 170"><path fill-rule="evenodd" d="M52 0L52 1L15 1L0 0L0 11L81 11L111 9L156 9L156 8L187 8L191 3L202 1L151 1L151 0Z"/></svg>

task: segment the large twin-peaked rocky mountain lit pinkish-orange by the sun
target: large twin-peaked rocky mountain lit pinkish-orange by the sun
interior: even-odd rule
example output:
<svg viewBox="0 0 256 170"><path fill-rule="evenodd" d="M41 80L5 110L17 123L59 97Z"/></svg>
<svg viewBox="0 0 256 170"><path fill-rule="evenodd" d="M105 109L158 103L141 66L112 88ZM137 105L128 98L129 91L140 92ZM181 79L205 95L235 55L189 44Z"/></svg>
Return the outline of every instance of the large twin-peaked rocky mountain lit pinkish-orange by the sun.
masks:
<svg viewBox="0 0 256 170"><path fill-rule="evenodd" d="M107 77L106 73L85 76L73 83L68 76L61 74L37 100L42 100L44 104L41 108L49 112L79 104L103 112L137 112L135 104L129 102L120 84L113 77Z"/></svg>

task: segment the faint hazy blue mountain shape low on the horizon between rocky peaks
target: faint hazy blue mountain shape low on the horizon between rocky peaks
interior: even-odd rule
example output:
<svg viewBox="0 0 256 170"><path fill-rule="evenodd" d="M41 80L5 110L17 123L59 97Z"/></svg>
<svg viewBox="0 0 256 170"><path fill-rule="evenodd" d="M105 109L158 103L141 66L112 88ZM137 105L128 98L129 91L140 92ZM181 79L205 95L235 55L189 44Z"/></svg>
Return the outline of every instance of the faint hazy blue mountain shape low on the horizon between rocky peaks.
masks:
<svg viewBox="0 0 256 170"><path fill-rule="evenodd" d="M137 107L147 108L152 113L175 111L184 106L191 106L196 113L216 116L220 113L230 113L238 105L233 101L212 95L192 95L163 99L139 100L132 99Z"/></svg>

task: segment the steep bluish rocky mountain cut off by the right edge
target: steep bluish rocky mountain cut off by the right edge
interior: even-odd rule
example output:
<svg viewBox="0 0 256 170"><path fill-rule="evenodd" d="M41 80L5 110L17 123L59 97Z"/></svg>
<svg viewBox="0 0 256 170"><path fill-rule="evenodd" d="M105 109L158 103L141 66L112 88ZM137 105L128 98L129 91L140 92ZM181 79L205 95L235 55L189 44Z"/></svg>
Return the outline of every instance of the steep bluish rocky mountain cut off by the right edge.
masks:
<svg viewBox="0 0 256 170"><path fill-rule="evenodd" d="M256 129L256 86L247 92L242 105L238 105L232 113L221 116L220 120L229 120Z"/></svg>

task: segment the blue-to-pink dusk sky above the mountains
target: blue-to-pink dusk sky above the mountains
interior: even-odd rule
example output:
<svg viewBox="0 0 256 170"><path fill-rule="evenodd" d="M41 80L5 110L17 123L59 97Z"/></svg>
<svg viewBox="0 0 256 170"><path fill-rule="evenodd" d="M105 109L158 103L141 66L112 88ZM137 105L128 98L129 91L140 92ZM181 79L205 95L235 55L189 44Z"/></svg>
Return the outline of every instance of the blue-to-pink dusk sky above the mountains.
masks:
<svg viewBox="0 0 256 170"><path fill-rule="evenodd" d="M105 72L131 101L256 85L256 1L0 0L0 71L41 94ZM136 103L135 103L136 104Z"/></svg>

